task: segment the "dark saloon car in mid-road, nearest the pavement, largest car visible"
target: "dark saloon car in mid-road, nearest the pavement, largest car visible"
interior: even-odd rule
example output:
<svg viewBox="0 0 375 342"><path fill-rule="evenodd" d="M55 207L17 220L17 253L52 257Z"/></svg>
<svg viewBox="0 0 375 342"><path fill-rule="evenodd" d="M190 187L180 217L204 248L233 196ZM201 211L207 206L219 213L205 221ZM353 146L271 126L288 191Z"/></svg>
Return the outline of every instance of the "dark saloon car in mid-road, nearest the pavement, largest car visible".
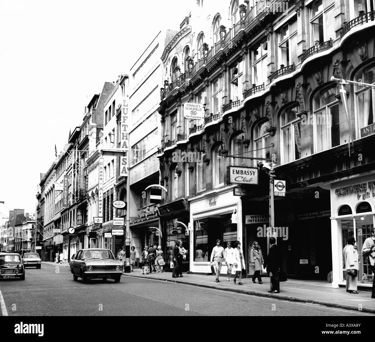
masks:
<svg viewBox="0 0 375 342"><path fill-rule="evenodd" d="M82 278L85 283L88 279L114 279L120 282L122 264L117 261L110 249L86 248L80 249L70 262L73 280Z"/></svg>

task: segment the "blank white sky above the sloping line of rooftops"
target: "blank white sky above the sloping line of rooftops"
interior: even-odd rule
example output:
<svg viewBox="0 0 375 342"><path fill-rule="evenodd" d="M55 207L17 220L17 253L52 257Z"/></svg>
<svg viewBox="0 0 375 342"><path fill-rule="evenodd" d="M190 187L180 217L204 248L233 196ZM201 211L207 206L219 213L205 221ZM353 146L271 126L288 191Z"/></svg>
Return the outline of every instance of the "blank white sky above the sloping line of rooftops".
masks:
<svg viewBox="0 0 375 342"><path fill-rule="evenodd" d="M35 212L55 144L160 28L179 29L189 1L0 0L0 212Z"/></svg>

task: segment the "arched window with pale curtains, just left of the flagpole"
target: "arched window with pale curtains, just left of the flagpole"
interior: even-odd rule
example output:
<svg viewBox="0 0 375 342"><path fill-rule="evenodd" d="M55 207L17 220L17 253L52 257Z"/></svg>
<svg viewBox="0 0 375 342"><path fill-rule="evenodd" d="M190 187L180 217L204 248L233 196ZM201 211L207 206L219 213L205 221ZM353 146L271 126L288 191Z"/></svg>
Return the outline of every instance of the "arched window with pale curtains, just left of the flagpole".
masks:
<svg viewBox="0 0 375 342"><path fill-rule="evenodd" d="M315 95L313 108L314 153L340 145L339 100L337 86Z"/></svg>

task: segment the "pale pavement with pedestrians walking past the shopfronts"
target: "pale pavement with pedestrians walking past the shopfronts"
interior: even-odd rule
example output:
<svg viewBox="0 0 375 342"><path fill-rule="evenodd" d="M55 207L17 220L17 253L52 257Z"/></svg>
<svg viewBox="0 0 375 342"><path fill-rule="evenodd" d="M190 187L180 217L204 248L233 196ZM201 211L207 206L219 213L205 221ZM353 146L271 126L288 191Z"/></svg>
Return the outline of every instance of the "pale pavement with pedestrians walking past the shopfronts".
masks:
<svg viewBox="0 0 375 342"><path fill-rule="evenodd" d="M263 284L252 282L251 278L242 279L243 285L226 281L225 275L220 275L220 282L215 282L215 276L201 274L183 274L183 278L172 278L171 272L150 273L142 275L142 270L136 269L131 273L123 273L125 276L136 278L151 278L181 284L214 288L218 290L231 291L259 297L272 297L279 300L290 300L292 302L313 303L347 310L369 312L375 314L375 299L371 299L371 291L359 289L359 294L350 294L345 288L332 288L331 283L326 281L308 281L288 279L280 283L280 293L270 294L270 278L262 278Z"/></svg>

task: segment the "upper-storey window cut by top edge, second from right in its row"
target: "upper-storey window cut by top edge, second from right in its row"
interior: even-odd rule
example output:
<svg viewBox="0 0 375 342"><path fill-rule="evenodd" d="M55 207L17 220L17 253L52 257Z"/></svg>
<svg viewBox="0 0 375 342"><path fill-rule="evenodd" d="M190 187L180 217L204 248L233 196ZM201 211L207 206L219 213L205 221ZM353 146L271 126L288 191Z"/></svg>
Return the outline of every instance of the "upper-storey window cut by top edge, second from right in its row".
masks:
<svg viewBox="0 0 375 342"><path fill-rule="evenodd" d="M335 39L334 0L317 0L311 6L311 45L326 42L329 39Z"/></svg>

